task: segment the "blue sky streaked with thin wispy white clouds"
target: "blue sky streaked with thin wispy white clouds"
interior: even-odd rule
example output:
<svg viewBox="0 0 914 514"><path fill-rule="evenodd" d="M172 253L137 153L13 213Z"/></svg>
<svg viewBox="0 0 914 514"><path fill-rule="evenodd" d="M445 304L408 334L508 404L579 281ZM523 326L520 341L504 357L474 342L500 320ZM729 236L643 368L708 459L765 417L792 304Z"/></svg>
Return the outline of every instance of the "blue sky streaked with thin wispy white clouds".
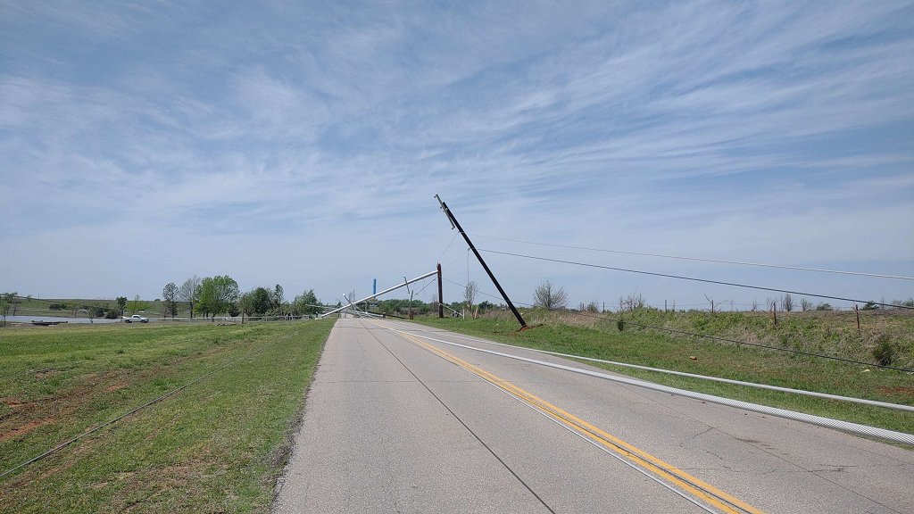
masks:
<svg viewBox="0 0 914 514"><path fill-rule="evenodd" d="M914 275L910 2L236 4L0 0L0 290L494 292L439 193L483 248L914 295L489 239ZM488 258L520 302L773 295Z"/></svg>

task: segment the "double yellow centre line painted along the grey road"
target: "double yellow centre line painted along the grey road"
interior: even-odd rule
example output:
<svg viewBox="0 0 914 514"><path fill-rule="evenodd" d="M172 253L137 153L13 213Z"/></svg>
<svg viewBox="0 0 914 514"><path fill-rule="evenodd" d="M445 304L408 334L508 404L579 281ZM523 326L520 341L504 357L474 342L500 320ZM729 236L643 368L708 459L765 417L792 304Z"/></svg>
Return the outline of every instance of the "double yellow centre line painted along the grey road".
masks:
<svg viewBox="0 0 914 514"><path fill-rule="evenodd" d="M382 325L378 326L384 327ZM575 416L570 412L558 408L556 405L553 405L552 403L537 397L531 392L525 391L515 386L513 383L507 380L496 377L485 369L473 366L473 364L455 357L452 354L442 350L441 348L434 347L429 343L421 340L419 337L413 336L412 334L401 332L389 327L385 328L396 332L400 337L407 339L409 342L429 350L431 353L441 357L441 359L448 360L449 362L460 366L462 369L470 371L477 377L486 380L487 382L493 384L508 394L515 396L515 398L521 400L522 402L526 402L527 404L533 406L538 411L547 414L547 416L550 418L587 437L590 439L590 441L599 444L601 447L606 448L616 455L621 455L622 457L627 458L632 463L641 466L644 470L654 474L655 477L664 479L665 481L673 484L675 487L679 487L681 490L692 495L697 500L702 501L716 509L719 509L721 512L726 512L728 514L762 514L761 510L752 507L741 499L731 496L728 493L718 489L717 487L714 487L707 482L698 479L697 477L693 477L675 466L671 466L665 463L654 455L648 454L647 452L633 446L632 444L628 444L625 441L622 441L622 439L612 434L608 434L607 432L601 430L599 427L580 419L578 416Z"/></svg>

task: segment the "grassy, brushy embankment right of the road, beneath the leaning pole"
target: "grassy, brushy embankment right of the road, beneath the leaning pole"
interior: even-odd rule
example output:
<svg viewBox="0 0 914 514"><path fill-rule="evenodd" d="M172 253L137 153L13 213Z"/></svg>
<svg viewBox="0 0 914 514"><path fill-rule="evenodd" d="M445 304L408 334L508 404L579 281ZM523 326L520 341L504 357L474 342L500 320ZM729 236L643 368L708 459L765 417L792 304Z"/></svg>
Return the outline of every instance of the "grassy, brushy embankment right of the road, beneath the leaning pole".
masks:
<svg viewBox="0 0 914 514"><path fill-rule="evenodd" d="M857 335L853 312L779 314L775 327L764 313L678 312L644 309L633 313L589 315L525 310L530 326L516 332L510 313L479 319L417 318L421 323L526 348L675 369L700 375L759 382L793 389L822 391L882 402L914 405L914 374L797 356L781 351L672 335L633 324L673 328L728 337L777 348L791 348L874 362L872 349L893 348L892 365L914 368L914 316L867 312ZM625 321L622 330L618 319ZM692 359L692 358L695 359ZM594 365L593 363L589 363ZM866 405L764 391L653 371L600 365L618 373L691 391L809 412L914 434L914 413Z"/></svg>

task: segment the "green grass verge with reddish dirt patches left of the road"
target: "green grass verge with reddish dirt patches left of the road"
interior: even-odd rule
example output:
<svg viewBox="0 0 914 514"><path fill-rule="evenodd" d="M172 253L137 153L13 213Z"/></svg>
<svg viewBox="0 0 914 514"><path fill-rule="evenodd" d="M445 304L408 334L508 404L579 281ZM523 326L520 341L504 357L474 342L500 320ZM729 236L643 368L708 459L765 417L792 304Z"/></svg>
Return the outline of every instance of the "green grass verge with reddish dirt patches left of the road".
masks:
<svg viewBox="0 0 914 514"><path fill-rule="evenodd" d="M332 320L0 332L0 512L267 512ZM225 369L219 369L226 366Z"/></svg>

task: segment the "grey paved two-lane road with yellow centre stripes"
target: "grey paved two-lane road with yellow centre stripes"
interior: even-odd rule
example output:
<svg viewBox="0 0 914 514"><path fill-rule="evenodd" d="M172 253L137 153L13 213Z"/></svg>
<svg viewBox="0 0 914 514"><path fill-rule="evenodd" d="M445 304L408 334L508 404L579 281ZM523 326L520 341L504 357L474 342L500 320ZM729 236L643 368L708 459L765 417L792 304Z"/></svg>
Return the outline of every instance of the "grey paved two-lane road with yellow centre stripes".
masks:
<svg viewBox="0 0 914 514"><path fill-rule="evenodd" d="M914 512L910 449L422 336L336 323L276 512Z"/></svg>

